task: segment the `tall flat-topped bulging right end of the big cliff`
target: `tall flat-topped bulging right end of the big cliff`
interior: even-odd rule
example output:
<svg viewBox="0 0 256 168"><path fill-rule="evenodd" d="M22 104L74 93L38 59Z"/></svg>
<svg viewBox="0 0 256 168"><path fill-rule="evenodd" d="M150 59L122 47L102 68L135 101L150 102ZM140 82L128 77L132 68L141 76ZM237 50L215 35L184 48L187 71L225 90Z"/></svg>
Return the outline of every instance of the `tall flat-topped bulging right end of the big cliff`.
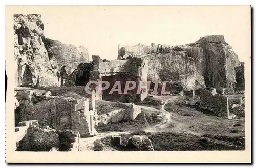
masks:
<svg viewBox="0 0 256 168"><path fill-rule="evenodd" d="M234 90L236 85L235 68L239 67L238 55L224 40L224 36L205 36L195 44L204 50L205 70L203 76L207 87L216 88L221 93L222 88Z"/></svg>

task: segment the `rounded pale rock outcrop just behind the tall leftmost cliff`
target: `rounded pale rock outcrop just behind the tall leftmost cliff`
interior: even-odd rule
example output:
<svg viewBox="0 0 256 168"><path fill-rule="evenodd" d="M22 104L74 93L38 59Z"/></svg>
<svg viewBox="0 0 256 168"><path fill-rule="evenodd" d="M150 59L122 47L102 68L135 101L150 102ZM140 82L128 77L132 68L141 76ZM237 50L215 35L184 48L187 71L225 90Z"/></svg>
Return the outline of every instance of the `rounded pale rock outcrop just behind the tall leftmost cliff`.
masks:
<svg viewBox="0 0 256 168"><path fill-rule="evenodd" d="M70 44L62 44L58 40L44 39L48 54L54 56L61 70L67 75L72 73L80 63L89 61L88 49L84 46L76 47Z"/></svg>

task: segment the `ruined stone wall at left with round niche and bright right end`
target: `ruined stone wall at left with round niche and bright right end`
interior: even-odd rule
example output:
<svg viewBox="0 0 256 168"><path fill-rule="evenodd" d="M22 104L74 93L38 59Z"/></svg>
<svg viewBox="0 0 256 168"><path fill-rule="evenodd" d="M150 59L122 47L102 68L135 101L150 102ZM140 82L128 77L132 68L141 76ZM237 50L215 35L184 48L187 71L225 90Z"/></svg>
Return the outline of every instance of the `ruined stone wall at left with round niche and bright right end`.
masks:
<svg viewBox="0 0 256 168"><path fill-rule="evenodd" d="M29 91L27 92L30 93ZM56 130L72 129L79 131L82 136L88 136L95 132L95 109L89 110L89 99L34 96L25 100L17 98L20 100L19 116L15 121L38 120L40 125L49 125Z"/></svg>

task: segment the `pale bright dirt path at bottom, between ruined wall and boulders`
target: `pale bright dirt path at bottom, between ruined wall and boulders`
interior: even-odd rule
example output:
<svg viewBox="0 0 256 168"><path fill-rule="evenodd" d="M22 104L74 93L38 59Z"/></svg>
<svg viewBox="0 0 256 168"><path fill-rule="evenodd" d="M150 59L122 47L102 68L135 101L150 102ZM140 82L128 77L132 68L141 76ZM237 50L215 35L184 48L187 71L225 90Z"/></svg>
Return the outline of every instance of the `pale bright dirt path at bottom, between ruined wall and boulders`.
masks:
<svg viewBox="0 0 256 168"><path fill-rule="evenodd" d="M129 132L102 132L102 133L97 133L93 137L81 138L80 151L93 151L94 150L93 142L95 140L101 139L106 136L116 136L120 134L130 134L130 133Z"/></svg>

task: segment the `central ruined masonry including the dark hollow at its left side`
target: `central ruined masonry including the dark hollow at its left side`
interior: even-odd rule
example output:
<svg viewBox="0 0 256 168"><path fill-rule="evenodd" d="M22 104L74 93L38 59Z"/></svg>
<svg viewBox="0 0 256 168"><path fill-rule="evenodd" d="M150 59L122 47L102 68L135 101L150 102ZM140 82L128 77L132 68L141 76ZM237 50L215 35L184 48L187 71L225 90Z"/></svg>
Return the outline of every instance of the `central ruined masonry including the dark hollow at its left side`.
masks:
<svg viewBox="0 0 256 168"><path fill-rule="evenodd" d="M136 87L129 90L127 94L132 95L136 100L142 101L147 93L142 89L147 86L147 60L134 58L126 60L103 61L99 56L93 55L93 61L90 63L81 63L70 75L63 77L63 86L75 87L86 86L89 81L108 81L109 89L103 90L99 99L109 100L111 96L123 96L126 81L135 81ZM116 81L120 81L122 93L113 92L109 94ZM95 89L96 85L90 85ZM138 91L139 90L139 91ZM138 91L138 92L137 92ZM82 91L83 92L83 91ZM110 98L111 99L111 98Z"/></svg>

